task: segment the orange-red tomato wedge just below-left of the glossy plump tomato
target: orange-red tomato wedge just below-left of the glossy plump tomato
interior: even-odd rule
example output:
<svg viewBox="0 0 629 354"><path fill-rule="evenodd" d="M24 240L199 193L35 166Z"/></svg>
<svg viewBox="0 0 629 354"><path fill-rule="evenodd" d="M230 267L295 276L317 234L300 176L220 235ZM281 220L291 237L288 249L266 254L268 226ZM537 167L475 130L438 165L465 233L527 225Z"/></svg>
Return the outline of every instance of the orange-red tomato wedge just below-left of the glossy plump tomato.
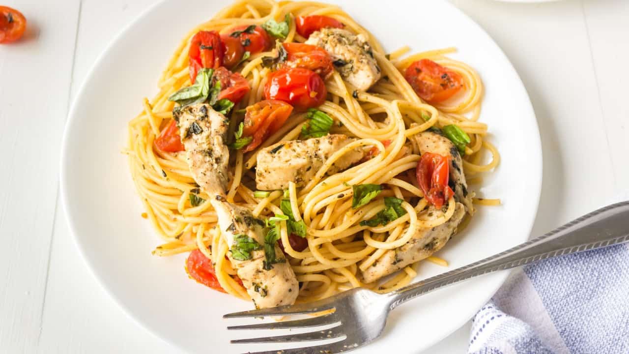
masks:
<svg viewBox="0 0 629 354"><path fill-rule="evenodd" d="M247 107L242 135L253 137L253 140L244 147L243 152L252 151L260 146L269 135L277 132L284 125L292 106L286 102L277 100L265 100Z"/></svg>

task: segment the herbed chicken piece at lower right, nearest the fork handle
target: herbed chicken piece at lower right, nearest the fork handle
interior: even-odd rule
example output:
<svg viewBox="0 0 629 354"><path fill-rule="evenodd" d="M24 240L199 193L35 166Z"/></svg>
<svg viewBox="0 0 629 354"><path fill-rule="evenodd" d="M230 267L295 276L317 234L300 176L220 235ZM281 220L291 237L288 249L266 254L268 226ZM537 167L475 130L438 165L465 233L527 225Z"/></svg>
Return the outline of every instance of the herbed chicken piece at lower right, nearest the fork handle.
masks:
<svg viewBox="0 0 629 354"><path fill-rule="evenodd" d="M442 216L443 212L430 207L428 208L428 215L432 215L429 217L430 219L436 219ZM375 282L416 261L430 257L450 240L464 215L465 207L463 204L457 203L454 214L447 222L431 229L420 229L408 243L386 251L376 263L362 272L365 283Z"/></svg>

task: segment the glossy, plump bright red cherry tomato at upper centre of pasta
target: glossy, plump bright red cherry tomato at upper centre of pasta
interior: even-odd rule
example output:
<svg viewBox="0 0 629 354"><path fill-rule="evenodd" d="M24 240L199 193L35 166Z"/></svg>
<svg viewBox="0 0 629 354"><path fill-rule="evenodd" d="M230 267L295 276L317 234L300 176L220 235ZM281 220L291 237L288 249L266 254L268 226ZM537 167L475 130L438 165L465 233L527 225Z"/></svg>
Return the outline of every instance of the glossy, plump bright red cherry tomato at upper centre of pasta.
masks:
<svg viewBox="0 0 629 354"><path fill-rule="evenodd" d="M284 101L298 110L320 106L327 93L321 76L301 67L284 67L270 73L264 86L267 100Z"/></svg>

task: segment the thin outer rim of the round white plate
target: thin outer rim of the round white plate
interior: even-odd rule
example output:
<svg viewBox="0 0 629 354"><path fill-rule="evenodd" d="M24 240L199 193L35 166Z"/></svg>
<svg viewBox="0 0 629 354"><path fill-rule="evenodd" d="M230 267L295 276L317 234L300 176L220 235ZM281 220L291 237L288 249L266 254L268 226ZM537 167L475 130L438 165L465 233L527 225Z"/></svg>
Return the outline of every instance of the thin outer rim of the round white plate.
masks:
<svg viewBox="0 0 629 354"><path fill-rule="evenodd" d="M62 135L61 157L60 157L59 193L61 197L60 201L64 210L65 220L66 220L67 226L69 227L70 234L72 234L74 245L79 251L79 254L82 260L87 265L87 268L89 269L89 273L91 273L92 277L96 279L96 282L99 284L99 286L103 288L106 294L108 294L109 297L111 297L111 299L114 300L116 305L118 305L123 310L125 315L129 317L134 323L138 324L140 328L145 329L146 331L148 331L148 333L152 334L156 338L159 338L159 340L162 340L165 343L168 343L173 348L176 348L177 350L182 350L185 352L187 351L185 347L179 345L179 343L175 343L174 340L172 340L171 338L167 336L162 336L156 328L153 328L153 326L151 326L149 323L142 321L142 319L135 316L132 309L128 305L126 305L125 302L118 295L116 295L113 288L111 288L108 284L106 284L106 282L104 282L103 277L99 276L99 271L97 270L96 266L91 260L89 260L89 258L87 258L87 252L85 250L86 245L82 243L82 241L80 241L78 232L75 229L76 228L75 226L76 215L73 216L69 212L70 201L68 200L69 197L67 194L67 190L69 190L69 185L68 185L68 180L67 180L67 174L69 173L69 171L67 171L68 157L69 157L69 154L68 154L69 135L70 135L71 127L73 123L75 122L75 120L77 119L77 112L76 112L77 106L78 106L77 103L80 101L80 98L84 95L86 91L87 83L91 81L92 76L94 76L96 72L96 68L99 67L100 64L104 61L104 59L106 58L106 55L110 52L111 48L114 47L114 45L116 45L118 40L120 40L120 38L122 38L136 23L138 23L138 21L146 18L150 13L155 11L155 9L159 8L160 6L162 6L164 3L167 3L168 1L172 1L172 0L159 0L156 3L152 4L151 6L148 6L140 14L135 16L133 20L131 20L125 26L123 26L123 28L121 28L121 30L118 31L116 35L114 35L114 37L108 42L108 44L104 47L104 49L99 53L96 60L94 60L93 64L91 65L89 71L87 71L86 76L84 76L82 83L79 86L79 89L77 90L74 98L72 98L72 104L70 105L70 110L68 111L67 118L65 120L64 133ZM300 1L300 0L295 0L295 1ZM500 0L500 1L504 1L504 0ZM514 2L513 0L506 0L506 1ZM542 1L547 1L547 0L542 0ZM513 63L511 62L511 60L509 60L509 57L504 53L503 49L498 45L498 43L496 43L494 38L491 37L491 35L489 35L489 33L487 33L487 31L481 25L479 25L479 23L474 21L474 19L472 19L469 15L464 13L464 11L457 8L457 6L455 6L454 4L450 3L447 0L440 0L440 2L443 4L443 6L447 6L450 8L450 10L456 11L461 16L464 16L464 18L467 18L470 24L472 26L476 26L476 28L480 30L481 33L486 37L488 42L491 43L491 45L494 45L496 49L498 49L498 52L502 55L503 59L506 61L506 64L508 64L508 68L510 69L511 73L514 75L514 78L517 79L517 82L520 84L520 87L523 89L523 93L526 96L526 100L523 100L523 103L524 103L523 108L526 108L527 110L526 116L528 116L529 119L531 120L530 123L532 124L532 128L534 127L535 128L534 132L537 133L537 134L534 134L535 135L534 137L531 137L535 141L533 142L533 144L528 146L528 148L532 150L533 155L539 156L539 158L533 162L537 164L538 173L535 175L534 180L533 179L529 180L533 185L535 185L536 192L534 193L534 195L529 195L529 197L532 197L531 199L533 199L532 204L534 207L532 208L531 216L528 218L528 220L525 220L525 224L524 224L524 226L526 226L526 229L528 230L526 233L529 234L529 238L530 238L530 233L533 229L533 225L535 224L535 220L537 219L540 197L542 194L543 151L542 151L542 142L541 142L541 137L540 137L539 125L537 122L537 116L535 115L535 110L530 100L528 90L526 89L526 86L523 83L520 77L520 74L518 74L518 71L516 71L515 67L513 66ZM514 270L515 268L511 270L507 270L507 271L501 271L499 273L494 273L494 277L499 278L499 281L496 282L496 285L493 288L491 288L491 292L488 292L489 295L487 295L484 302L489 301L489 299L491 299L491 297L493 297L493 295L496 294L498 289L502 287L506 279ZM460 321L452 321L452 325L448 326L448 329L443 331L442 336L435 336L431 338L430 340L428 340L430 344L428 346L425 346L422 350L429 349L431 346L436 345L437 343L442 341L444 338L446 338L450 334L460 329L465 323L467 323L470 319L472 319L472 317L474 317L474 314L476 314L477 311L478 309L476 308L472 309L472 307L466 307L465 316L461 316ZM378 338L378 340L382 340L382 337Z"/></svg>

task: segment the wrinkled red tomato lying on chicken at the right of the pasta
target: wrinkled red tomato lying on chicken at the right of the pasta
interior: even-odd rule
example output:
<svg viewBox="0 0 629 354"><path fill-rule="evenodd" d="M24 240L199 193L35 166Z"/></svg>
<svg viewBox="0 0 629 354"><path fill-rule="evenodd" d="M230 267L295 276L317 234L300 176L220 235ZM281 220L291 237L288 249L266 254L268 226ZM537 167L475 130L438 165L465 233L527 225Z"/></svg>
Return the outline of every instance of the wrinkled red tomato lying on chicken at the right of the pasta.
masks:
<svg viewBox="0 0 629 354"><path fill-rule="evenodd" d="M454 195L454 191L448 186L449 162L450 156L425 152L417 164L417 183L424 192L424 198L435 205L435 208L443 207Z"/></svg>

